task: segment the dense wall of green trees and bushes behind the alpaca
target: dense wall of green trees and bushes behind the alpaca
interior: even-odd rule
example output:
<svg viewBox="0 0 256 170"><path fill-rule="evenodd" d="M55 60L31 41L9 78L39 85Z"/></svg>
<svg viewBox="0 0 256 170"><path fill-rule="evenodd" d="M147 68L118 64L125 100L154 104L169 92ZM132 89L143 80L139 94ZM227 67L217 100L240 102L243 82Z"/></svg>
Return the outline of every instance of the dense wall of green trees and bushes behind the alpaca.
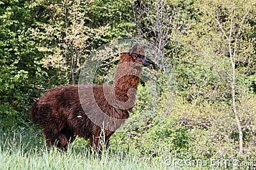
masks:
<svg viewBox="0 0 256 170"><path fill-rule="evenodd" d="M76 84L95 49L116 39L144 39L161 54L154 60L164 58L174 71L157 76L156 98L141 82L131 115L143 111L150 118L116 133L110 147L153 157L163 149L255 159L255 3L0 0L0 132L30 127L33 101L51 87ZM106 63L102 70L115 60ZM173 79L175 86L165 87Z"/></svg>

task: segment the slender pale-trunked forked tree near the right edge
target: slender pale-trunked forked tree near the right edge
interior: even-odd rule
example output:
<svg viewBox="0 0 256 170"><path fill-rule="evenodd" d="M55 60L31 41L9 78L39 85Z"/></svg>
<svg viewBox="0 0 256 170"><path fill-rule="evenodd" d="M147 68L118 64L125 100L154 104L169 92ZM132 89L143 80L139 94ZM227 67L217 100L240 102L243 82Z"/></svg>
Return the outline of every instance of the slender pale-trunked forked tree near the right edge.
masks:
<svg viewBox="0 0 256 170"><path fill-rule="evenodd" d="M239 100L237 93L241 94L241 92L238 90L237 76L239 76L239 70L236 69L236 63L241 60L250 63L250 59L255 58L255 40L243 35L243 32L252 32L253 28L250 22L255 15L255 1L247 1L246 3L241 1L204 1L202 4L205 10L203 12L210 16L202 18L202 22L211 23L214 32L220 35L221 41L218 42L216 53L220 52L224 55L223 57L230 59L230 62L227 62L228 65L223 66L227 70L228 76L222 78L232 96L231 104L239 131L239 153L242 154L243 127L241 126L241 118L239 118L240 113L237 111L237 100ZM212 64L216 64L214 59Z"/></svg>

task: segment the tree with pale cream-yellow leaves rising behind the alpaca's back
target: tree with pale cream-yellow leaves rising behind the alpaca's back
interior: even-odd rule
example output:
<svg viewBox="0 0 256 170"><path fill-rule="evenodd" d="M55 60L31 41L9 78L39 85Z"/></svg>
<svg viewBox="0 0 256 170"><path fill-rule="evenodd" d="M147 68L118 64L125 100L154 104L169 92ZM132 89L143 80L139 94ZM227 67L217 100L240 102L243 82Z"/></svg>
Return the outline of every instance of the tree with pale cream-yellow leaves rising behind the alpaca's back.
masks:
<svg viewBox="0 0 256 170"><path fill-rule="evenodd" d="M43 4L48 19L34 32L41 42L38 50L45 55L40 64L56 69L62 84L77 83L84 59L95 48L126 34L124 3L67 0Z"/></svg>

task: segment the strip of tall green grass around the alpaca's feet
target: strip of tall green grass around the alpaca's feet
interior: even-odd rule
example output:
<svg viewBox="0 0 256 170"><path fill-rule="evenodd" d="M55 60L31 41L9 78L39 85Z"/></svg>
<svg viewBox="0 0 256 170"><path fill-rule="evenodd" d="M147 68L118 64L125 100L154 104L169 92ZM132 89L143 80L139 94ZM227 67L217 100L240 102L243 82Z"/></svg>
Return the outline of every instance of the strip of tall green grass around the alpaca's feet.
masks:
<svg viewBox="0 0 256 170"><path fill-rule="evenodd" d="M43 136L33 129L12 132L0 131L0 169L227 169L225 166L186 166L181 159L159 151L157 157L146 157L131 150L114 152L109 147L99 155L90 153L82 139L77 139L67 152L47 148ZM186 156L185 156L186 157ZM184 159L186 160L186 159ZM184 161L183 160L183 161ZM208 162L209 163L209 162ZM234 169L234 168L232 168Z"/></svg>

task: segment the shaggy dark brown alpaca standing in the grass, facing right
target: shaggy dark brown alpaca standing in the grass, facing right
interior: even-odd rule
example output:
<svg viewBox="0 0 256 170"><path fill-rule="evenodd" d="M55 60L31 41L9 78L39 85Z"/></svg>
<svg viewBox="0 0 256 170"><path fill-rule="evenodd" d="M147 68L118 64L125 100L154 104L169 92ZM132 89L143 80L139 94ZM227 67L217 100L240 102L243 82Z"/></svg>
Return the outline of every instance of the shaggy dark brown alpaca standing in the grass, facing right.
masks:
<svg viewBox="0 0 256 170"><path fill-rule="evenodd" d="M150 60L135 46L122 53L114 85L67 85L47 91L31 106L31 120L43 128L47 146L66 149L68 141L79 136L90 139L90 146L101 150L104 141L129 117L140 83L141 67ZM142 49L143 50L143 49ZM136 53L134 53L136 52Z"/></svg>

